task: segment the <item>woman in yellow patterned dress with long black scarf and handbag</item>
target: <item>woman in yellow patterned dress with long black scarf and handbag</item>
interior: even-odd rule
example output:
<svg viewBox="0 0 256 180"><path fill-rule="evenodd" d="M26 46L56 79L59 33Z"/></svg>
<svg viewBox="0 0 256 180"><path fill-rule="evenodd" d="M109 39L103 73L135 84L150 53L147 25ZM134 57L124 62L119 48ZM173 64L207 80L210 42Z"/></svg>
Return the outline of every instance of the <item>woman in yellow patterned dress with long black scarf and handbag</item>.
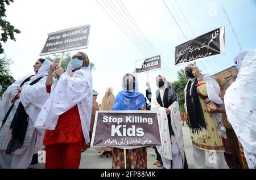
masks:
<svg viewBox="0 0 256 180"><path fill-rule="evenodd" d="M198 95L208 96L210 101L221 105L220 87L213 76L201 75L199 68L192 64L185 66L185 77L188 83L184 89L184 106L188 113L195 168L205 167L205 151L209 153L214 168L224 168L222 137L226 138L226 130L221 114L208 113L203 98Z"/></svg>

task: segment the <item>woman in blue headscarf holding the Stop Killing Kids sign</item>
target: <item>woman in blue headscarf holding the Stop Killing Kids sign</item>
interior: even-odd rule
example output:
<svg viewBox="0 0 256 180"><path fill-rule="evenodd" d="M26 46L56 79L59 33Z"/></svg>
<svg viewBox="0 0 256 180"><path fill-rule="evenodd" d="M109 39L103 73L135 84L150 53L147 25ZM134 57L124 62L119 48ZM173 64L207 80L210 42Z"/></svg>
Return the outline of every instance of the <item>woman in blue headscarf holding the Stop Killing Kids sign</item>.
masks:
<svg viewBox="0 0 256 180"><path fill-rule="evenodd" d="M115 97L112 110L146 110L146 102L144 96L142 93L138 92L138 82L134 75L124 75L122 79L122 87L123 91L120 91ZM125 168L123 149L114 148L112 168ZM126 168L147 168L146 147L126 149Z"/></svg>

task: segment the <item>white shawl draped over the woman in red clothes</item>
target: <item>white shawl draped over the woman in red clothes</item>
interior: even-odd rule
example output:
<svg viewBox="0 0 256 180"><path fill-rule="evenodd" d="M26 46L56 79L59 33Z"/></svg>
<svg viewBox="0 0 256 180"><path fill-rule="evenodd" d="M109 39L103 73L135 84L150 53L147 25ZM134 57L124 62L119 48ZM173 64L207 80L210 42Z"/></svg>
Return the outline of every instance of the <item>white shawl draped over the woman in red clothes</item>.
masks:
<svg viewBox="0 0 256 180"><path fill-rule="evenodd" d="M72 77L70 76L72 75ZM54 130L59 115L77 105L79 109L82 132L86 143L89 143L90 117L92 113L92 74L90 64L72 72L70 62L65 74L52 84L51 95L44 104L36 128Z"/></svg>

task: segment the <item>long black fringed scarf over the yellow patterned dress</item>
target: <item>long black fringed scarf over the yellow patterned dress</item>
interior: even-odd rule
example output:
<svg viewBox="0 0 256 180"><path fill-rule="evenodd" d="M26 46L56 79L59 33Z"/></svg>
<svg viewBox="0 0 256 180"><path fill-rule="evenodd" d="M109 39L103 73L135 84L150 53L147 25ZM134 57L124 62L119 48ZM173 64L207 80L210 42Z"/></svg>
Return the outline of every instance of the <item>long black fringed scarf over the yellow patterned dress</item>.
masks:
<svg viewBox="0 0 256 180"><path fill-rule="evenodd" d="M206 129L205 119L203 109L199 100L199 96L197 95L197 79L192 85L191 89L191 81L187 84L187 92L186 92L186 103L188 110L188 119L191 126L192 132L196 132L197 130L201 130L201 128ZM190 96L190 89L192 93L192 100Z"/></svg>

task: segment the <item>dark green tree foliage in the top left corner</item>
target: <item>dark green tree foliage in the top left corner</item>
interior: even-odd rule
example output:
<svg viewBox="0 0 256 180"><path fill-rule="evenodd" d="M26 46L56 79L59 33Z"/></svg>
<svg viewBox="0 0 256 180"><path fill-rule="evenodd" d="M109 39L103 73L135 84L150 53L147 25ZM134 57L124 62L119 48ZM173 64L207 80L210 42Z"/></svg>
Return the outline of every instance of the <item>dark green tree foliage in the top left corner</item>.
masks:
<svg viewBox="0 0 256 180"><path fill-rule="evenodd" d="M0 39L0 54L4 52L2 48L1 42L6 42L8 38L10 38L13 41L16 41L14 37L14 33L19 34L19 29L15 29L13 25L11 25L7 20L4 18L6 17L5 14L5 6L10 5L10 3L13 3L14 0L1 0L0 1L0 28L1 28L1 39Z"/></svg>

